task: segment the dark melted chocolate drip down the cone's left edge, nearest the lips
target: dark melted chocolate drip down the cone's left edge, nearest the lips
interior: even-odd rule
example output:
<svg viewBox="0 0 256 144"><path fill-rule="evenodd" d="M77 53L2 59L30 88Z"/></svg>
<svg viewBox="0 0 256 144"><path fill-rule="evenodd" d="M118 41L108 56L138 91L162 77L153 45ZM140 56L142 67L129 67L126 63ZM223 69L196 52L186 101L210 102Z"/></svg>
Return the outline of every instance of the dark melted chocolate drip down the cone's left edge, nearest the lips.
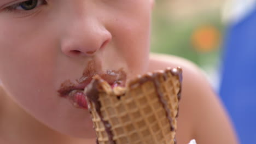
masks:
<svg viewBox="0 0 256 144"><path fill-rule="evenodd" d="M103 117L102 117L102 113L101 113L101 103L99 100L99 94L102 88L99 87L100 83L102 82L102 79L95 79L94 81L92 81L90 83L90 85L88 86L89 91L86 92L86 98L89 100L90 103L94 103L95 104L95 109L96 112L98 113L98 115L101 118L101 122L104 125L104 128L106 130L106 133L108 135L108 139L110 144L116 144L116 142L113 140L113 133L111 131L111 125L108 121L104 121ZM90 109L90 108L89 108ZM91 110L90 110L91 111ZM98 139L96 140L96 143L98 144Z"/></svg>

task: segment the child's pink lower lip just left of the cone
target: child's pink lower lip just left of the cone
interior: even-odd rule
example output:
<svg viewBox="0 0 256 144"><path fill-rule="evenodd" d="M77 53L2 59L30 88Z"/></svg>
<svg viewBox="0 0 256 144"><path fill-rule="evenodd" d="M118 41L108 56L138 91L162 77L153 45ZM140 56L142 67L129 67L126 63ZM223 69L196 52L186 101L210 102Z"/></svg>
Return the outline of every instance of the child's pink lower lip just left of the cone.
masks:
<svg viewBox="0 0 256 144"><path fill-rule="evenodd" d="M87 101L83 91L74 90L73 92L69 93L69 99L71 99L71 103L73 103L75 107L88 110Z"/></svg>

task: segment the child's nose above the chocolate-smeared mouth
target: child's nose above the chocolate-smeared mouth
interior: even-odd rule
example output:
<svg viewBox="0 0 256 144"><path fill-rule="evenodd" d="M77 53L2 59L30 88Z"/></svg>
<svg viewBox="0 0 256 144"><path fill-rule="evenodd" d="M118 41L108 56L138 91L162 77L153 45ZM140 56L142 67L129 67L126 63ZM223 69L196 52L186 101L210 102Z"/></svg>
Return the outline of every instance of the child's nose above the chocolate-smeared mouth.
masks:
<svg viewBox="0 0 256 144"><path fill-rule="evenodd" d="M98 20L78 19L69 23L61 41L61 51L69 57L94 56L112 40Z"/></svg>

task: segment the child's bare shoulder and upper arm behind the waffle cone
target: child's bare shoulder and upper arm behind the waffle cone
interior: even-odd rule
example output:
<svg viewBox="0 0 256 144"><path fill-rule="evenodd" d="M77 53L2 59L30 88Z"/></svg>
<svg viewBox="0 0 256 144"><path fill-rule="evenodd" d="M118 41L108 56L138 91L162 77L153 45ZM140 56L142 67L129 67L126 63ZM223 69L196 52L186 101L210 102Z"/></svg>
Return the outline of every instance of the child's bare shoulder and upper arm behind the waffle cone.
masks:
<svg viewBox="0 0 256 144"><path fill-rule="evenodd" d="M177 125L177 141L188 143L236 143L228 115L203 71L180 57L151 54L148 71L166 67L183 69L182 99Z"/></svg>

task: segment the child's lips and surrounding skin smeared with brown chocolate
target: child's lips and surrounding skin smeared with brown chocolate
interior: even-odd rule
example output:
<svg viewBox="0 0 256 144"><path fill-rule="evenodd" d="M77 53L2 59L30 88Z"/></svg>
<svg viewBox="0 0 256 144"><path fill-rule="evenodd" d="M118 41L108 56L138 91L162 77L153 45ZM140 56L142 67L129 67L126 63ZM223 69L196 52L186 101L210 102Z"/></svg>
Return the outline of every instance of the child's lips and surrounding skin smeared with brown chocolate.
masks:
<svg viewBox="0 0 256 144"><path fill-rule="evenodd" d="M57 91L60 97L67 98L71 103L80 109L88 109L88 104L85 99L84 88L89 85L92 77L99 75L103 80L107 81L109 85L124 86L126 81L126 73L123 69L120 70L106 70L101 69L101 65L96 64L95 61L88 62L87 67L83 71L83 75L75 80L77 83L66 80L61 83Z"/></svg>

